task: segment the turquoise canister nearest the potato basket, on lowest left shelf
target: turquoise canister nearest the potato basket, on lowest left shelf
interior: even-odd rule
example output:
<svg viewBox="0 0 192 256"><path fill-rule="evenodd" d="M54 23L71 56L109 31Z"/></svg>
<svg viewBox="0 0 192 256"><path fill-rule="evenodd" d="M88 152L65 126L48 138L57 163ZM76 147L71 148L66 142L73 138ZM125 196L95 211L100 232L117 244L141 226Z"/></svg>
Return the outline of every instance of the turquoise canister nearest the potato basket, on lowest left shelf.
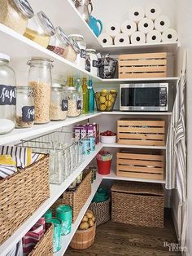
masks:
<svg viewBox="0 0 192 256"><path fill-rule="evenodd" d="M68 235L72 231L72 208L69 205L59 205L56 208L56 217L62 222L61 235Z"/></svg>

